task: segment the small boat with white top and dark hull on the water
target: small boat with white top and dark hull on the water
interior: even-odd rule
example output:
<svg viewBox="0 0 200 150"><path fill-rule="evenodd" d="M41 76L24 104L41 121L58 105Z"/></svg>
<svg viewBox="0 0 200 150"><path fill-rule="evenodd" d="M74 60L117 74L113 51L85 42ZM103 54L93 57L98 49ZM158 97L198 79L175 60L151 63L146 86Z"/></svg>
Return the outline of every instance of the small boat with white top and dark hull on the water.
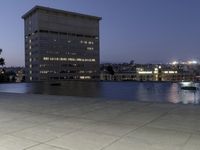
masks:
<svg viewBox="0 0 200 150"><path fill-rule="evenodd" d="M180 82L181 90L190 90L190 91L197 91L199 90L199 84L195 82Z"/></svg>

